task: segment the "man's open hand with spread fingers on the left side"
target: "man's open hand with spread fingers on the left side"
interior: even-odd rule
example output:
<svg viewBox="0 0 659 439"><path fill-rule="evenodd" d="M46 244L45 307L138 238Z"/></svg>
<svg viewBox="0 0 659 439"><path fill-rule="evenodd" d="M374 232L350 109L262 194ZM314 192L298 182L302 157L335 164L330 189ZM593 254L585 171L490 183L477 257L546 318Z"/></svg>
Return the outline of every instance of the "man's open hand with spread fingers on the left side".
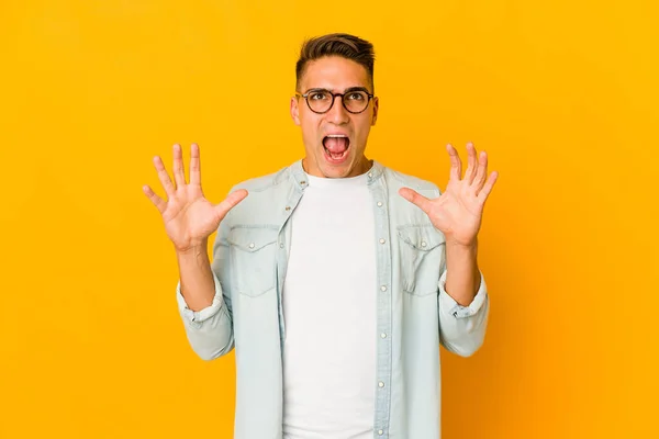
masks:
<svg viewBox="0 0 659 439"><path fill-rule="evenodd" d="M180 254L201 246L205 249L209 236L217 229L220 222L230 210L247 196L247 191L244 189L231 193L220 204L212 204L203 196L197 144L192 144L190 149L190 183L186 182L182 151L178 144L174 145L176 187L159 156L154 157L154 166L167 193L167 201L158 196L149 185L144 185L143 191L163 215L167 236Z"/></svg>

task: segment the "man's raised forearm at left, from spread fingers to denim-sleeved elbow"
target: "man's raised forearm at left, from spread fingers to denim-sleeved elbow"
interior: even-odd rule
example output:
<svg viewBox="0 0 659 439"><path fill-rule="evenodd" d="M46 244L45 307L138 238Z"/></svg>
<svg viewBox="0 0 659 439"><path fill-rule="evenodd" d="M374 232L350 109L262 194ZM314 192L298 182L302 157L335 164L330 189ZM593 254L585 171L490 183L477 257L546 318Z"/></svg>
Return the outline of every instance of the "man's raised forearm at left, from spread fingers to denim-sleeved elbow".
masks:
<svg viewBox="0 0 659 439"><path fill-rule="evenodd" d="M167 236L175 248L180 279L177 300L188 339L201 358L211 360L231 350L233 328L231 311L223 300L222 288L213 271L221 270L221 267L212 266L209 260L208 239L220 228L228 211L247 196L247 191L235 191L219 204L208 201L201 188L197 144L192 144L190 151L189 183L186 182L180 145L174 145L176 184L160 157L154 158L154 166L167 201L148 185L143 190L160 213Z"/></svg>

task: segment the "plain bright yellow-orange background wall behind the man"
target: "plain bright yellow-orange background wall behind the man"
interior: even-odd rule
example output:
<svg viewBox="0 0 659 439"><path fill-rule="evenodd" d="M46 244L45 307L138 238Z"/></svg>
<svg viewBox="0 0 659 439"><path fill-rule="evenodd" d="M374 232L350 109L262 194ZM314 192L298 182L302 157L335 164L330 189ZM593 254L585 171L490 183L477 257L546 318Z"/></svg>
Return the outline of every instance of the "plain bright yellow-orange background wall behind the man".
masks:
<svg viewBox="0 0 659 439"><path fill-rule="evenodd" d="M302 40L376 46L367 151L445 188L490 154L483 348L443 351L444 438L658 438L655 0L0 3L0 437L228 438L142 193L197 142L209 199L302 155ZM414 438L412 438L414 439Z"/></svg>

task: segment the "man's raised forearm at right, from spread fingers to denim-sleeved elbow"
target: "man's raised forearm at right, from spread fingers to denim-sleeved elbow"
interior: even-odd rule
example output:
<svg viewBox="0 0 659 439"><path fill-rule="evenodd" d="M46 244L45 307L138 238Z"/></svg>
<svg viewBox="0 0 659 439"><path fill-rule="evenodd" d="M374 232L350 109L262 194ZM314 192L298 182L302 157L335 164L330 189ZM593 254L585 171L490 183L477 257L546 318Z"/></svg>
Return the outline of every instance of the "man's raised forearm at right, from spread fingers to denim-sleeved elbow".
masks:
<svg viewBox="0 0 659 439"><path fill-rule="evenodd" d="M448 350L466 357L482 345L485 335L489 297L477 263L478 232L498 172L488 176L487 154L477 158L476 148L468 144L468 166L461 178L458 153L451 145L447 151L450 179L440 196L431 200L410 188L401 189L400 194L423 210L446 237L446 269L437 299L439 339Z"/></svg>

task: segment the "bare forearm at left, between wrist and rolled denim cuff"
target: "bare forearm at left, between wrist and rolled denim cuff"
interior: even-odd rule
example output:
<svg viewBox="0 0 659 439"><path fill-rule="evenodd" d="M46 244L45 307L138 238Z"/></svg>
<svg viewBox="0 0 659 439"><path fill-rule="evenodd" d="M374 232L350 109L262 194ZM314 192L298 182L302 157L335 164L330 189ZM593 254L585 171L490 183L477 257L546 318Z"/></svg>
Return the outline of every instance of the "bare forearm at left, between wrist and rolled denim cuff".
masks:
<svg viewBox="0 0 659 439"><path fill-rule="evenodd" d="M215 285L206 243L191 248L189 251L177 251L181 295L188 307L200 311L213 303Z"/></svg>

